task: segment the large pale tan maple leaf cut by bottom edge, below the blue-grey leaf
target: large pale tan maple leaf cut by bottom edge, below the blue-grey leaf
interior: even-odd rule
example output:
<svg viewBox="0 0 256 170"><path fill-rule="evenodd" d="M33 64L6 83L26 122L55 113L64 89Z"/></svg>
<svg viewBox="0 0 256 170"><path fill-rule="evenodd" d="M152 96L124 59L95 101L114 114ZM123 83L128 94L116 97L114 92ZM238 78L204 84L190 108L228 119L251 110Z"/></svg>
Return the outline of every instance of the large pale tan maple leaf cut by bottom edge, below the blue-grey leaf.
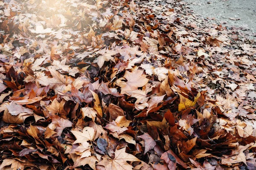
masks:
<svg viewBox="0 0 256 170"><path fill-rule="evenodd" d="M132 170L133 166L127 163L127 161L134 162L140 161L135 156L125 152L125 147L116 150L115 157L111 159L110 157L103 157L102 161L99 161L97 165L102 165L107 170Z"/></svg>

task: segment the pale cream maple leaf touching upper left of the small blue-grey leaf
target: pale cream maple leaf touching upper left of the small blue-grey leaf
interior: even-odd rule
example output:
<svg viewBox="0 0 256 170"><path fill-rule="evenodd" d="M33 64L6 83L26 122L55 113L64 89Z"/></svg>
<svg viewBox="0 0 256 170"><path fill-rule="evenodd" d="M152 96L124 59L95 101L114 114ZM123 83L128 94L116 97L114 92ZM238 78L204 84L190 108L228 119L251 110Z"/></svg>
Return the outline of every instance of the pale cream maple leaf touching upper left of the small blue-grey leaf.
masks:
<svg viewBox="0 0 256 170"><path fill-rule="evenodd" d="M95 131L92 127L84 127L82 132L71 130L74 136L76 136L76 143L83 143L84 141L93 141Z"/></svg>

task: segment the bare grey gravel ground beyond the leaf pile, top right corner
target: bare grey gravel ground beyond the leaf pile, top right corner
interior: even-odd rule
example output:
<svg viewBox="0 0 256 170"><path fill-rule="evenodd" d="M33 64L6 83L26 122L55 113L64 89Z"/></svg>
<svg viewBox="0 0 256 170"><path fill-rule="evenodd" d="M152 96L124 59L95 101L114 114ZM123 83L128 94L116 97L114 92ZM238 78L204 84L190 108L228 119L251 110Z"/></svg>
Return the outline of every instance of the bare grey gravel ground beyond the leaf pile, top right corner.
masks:
<svg viewBox="0 0 256 170"><path fill-rule="evenodd" d="M184 0L195 16L256 39L256 0Z"/></svg>

